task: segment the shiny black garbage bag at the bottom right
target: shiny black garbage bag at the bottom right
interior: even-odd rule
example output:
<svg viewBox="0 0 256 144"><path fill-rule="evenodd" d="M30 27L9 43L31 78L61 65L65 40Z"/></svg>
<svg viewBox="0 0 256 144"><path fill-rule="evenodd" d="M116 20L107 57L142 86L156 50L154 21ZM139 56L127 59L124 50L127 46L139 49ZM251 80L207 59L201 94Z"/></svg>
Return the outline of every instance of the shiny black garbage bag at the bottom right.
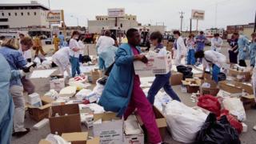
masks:
<svg viewBox="0 0 256 144"><path fill-rule="evenodd" d="M216 115L211 113L206 118L201 130L195 138L194 144L240 144L238 132L230 126L226 116L217 121Z"/></svg>

